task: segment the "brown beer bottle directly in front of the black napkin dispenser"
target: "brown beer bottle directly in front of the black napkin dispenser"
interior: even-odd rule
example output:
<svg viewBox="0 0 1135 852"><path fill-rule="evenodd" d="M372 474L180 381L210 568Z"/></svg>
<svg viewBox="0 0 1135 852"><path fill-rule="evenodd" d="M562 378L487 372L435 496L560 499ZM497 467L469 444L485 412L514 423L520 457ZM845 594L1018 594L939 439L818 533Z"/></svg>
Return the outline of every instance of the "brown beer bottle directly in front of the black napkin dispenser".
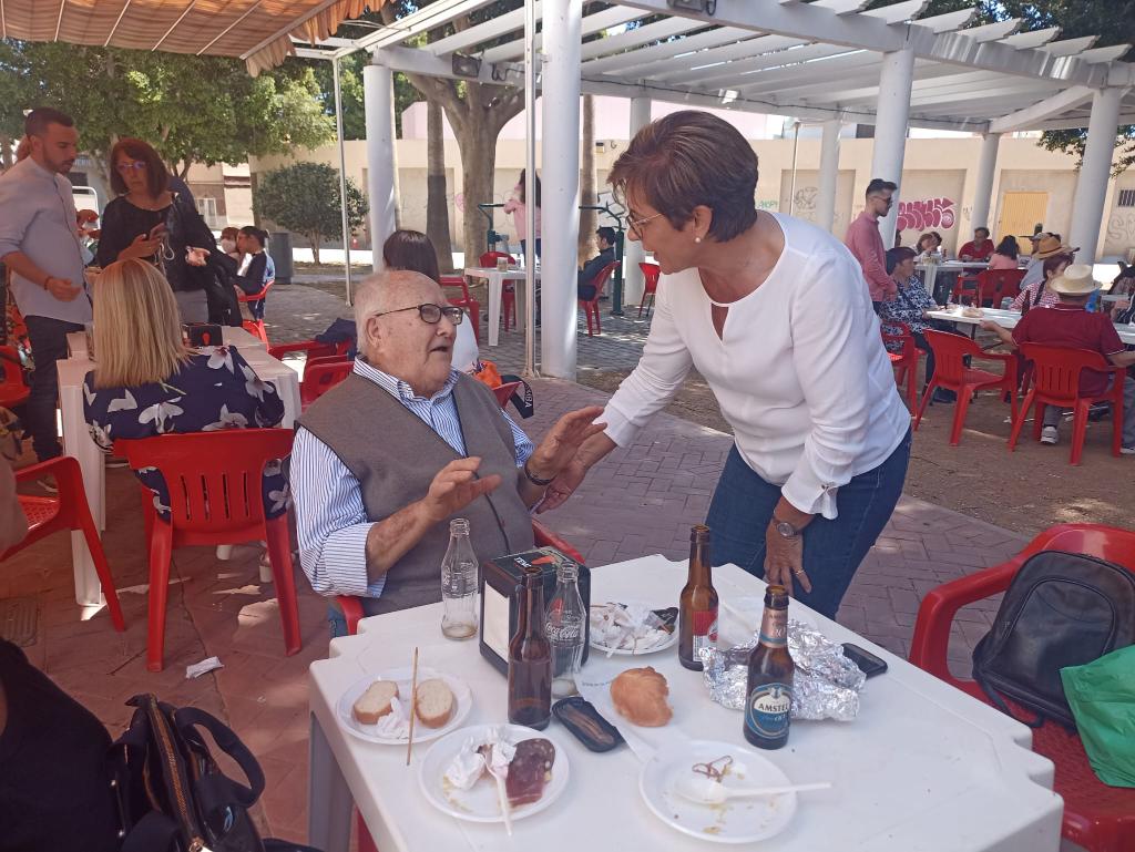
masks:
<svg viewBox="0 0 1135 852"><path fill-rule="evenodd" d="M552 644L544 632L544 577L526 571L508 642L508 722L543 731L552 719Z"/></svg>

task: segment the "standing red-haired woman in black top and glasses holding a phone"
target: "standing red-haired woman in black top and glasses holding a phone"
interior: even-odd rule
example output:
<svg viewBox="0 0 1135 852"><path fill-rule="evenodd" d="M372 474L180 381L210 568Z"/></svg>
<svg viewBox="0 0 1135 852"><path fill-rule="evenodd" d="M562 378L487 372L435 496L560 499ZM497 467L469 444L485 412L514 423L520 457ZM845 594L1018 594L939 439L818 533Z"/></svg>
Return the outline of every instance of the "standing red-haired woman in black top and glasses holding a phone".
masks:
<svg viewBox="0 0 1135 852"><path fill-rule="evenodd" d="M138 258L157 265L177 298L183 322L239 324L236 300L217 282L212 231L192 201L169 188L161 157L142 140L119 140L110 152L110 186L118 197L102 213L96 262Z"/></svg>

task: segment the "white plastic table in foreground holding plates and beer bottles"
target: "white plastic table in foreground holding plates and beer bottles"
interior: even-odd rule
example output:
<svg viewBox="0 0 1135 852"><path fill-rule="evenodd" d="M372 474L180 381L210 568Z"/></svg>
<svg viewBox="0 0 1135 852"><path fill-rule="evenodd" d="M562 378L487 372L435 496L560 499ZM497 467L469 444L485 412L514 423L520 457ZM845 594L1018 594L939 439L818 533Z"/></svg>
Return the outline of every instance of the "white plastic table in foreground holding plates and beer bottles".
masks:
<svg viewBox="0 0 1135 852"><path fill-rule="evenodd" d="M646 556L592 570L591 600L669 607L678 602L686 579L684 562ZM713 579L723 604L743 605L759 621L762 581L733 565L714 568ZM1051 790L1052 764L1029 750L1027 727L801 604L791 602L789 617L835 642L866 648L886 660L889 670L867 682L855 720L793 723L788 746L765 753L791 783L831 782L832 787L801 794L789 825L760 849L1056 852L1062 802ZM501 824L459 820L435 810L418 778L431 743L415 743L407 767L405 745L363 742L347 733L336 705L367 675L410 666L418 647L420 666L469 684L473 700L464 725L505 723L505 677L480 656L476 641L444 639L440 622L440 604L367 618L359 635L331 641L330 659L312 664L310 844L345 852L355 804L382 852L713 847L671 829L648 810L639 793L641 764L630 748L587 751L555 720L545 733L568 752L566 787L546 810L514 820L511 838ZM730 643L754 626L742 625L725 607L721 624L722 641ZM666 727L638 728L642 739L649 732L678 743L720 740L746 746L741 714L712 702L701 674L682 668L675 648L613 659L592 648L583 670L605 680L604 667L647 665L669 681L674 716ZM555 766L552 771L554 784ZM712 823L707 816L706 824Z"/></svg>

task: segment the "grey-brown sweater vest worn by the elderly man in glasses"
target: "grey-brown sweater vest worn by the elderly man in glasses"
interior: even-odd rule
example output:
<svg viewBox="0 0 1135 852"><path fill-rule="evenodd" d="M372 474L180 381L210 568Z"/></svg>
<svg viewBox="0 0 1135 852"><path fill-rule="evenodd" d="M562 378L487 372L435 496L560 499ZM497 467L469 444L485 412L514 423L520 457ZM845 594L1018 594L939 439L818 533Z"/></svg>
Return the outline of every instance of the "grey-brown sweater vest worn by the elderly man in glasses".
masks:
<svg viewBox="0 0 1135 852"><path fill-rule="evenodd" d="M501 475L501 484L457 512L469 518L473 551L481 562L532 547L532 523L516 491L523 471L516 467L512 430L485 385L462 376L453 388L465 452L480 456L484 479ZM326 444L354 474L371 521L382 521L429 491L445 465L461 456L401 402L375 382L351 373L303 413L299 424ZM429 530L387 572L382 596L369 614L390 613L442 599L442 558L449 545L445 522Z"/></svg>

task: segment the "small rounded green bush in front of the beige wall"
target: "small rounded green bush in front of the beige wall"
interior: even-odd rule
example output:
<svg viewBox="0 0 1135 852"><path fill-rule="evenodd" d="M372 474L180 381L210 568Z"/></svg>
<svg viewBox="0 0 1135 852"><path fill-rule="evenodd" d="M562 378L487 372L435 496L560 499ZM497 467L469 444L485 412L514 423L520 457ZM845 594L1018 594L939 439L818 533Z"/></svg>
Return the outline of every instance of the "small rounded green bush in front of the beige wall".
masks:
<svg viewBox="0 0 1135 852"><path fill-rule="evenodd" d="M367 200L347 178L347 227L354 233L367 216ZM321 162L297 162L260 178L252 197L258 217L302 234L311 243L316 263L325 239L343 237L339 172Z"/></svg>

